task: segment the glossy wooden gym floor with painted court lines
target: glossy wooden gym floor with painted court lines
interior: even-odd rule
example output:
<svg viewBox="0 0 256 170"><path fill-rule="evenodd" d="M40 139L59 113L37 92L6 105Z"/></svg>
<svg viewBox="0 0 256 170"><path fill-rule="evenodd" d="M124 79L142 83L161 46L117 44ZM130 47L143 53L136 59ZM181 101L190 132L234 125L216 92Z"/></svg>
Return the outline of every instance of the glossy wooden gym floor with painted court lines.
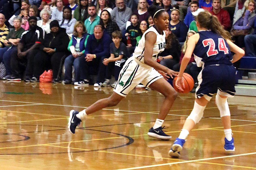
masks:
<svg viewBox="0 0 256 170"><path fill-rule="evenodd" d="M133 90L116 107L87 116L71 135L69 111L81 111L112 88L0 80L1 170L256 169L256 97L229 99L236 151L224 151L214 98L191 131L179 159L168 151L190 114L194 94L179 95L164 126L170 141L147 136L164 97Z"/></svg>

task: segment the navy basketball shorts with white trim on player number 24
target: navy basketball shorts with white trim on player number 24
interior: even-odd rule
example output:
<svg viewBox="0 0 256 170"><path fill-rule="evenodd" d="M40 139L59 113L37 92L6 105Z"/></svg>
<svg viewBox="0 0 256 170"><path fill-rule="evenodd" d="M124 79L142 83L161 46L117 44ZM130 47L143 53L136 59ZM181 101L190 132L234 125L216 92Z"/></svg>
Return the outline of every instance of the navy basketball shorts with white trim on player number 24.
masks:
<svg viewBox="0 0 256 170"><path fill-rule="evenodd" d="M234 97L236 90L236 68L233 65L209 65L199 73L195 97L205 97L208 101L219 95Z"/></svg>

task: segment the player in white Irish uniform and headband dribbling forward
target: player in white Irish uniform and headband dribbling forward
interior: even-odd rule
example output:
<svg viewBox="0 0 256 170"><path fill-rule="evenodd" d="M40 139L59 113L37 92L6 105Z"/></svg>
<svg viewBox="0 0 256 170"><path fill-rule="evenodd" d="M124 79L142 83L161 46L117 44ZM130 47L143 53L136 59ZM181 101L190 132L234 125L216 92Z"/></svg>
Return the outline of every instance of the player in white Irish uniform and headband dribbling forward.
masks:
<svg viewBox="0 0 256 170"><path fill-rule="evenodd" d="M69 118L71 133L75 133L76 127L86 115L117 105L136 85L142 83L165 96L158 118L154 126L149 129L148 135L162 140L171 139L171 136L162 131L164 129L162 124L177 97L177 92L165 78L178 73L156 62L158 54L164 51L164 30L168 28L169 15L164 9L155 5L150 6L148 12L152 16L155 26L150 27L143 34L133 56L125 62L113 94L108 98L96 101L81 112L71 110Z"/></svg>

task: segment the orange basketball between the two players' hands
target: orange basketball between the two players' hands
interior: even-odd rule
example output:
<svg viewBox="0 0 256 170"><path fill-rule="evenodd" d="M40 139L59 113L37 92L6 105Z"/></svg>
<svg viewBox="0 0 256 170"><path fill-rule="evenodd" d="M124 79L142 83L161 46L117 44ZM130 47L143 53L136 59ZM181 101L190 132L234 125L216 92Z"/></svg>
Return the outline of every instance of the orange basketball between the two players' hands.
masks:
<svg viewBox="0 0 256 170"><path fill-rule="evenodd" d="M194 87L194 79L192 78L191 75L187 73L183 73L183 80L185 84L185 89L183 89L184 90L183 92L176 87L175 85L176 80L177 80L177 77L174 77L173 88L179 93L189 93Z"/></svg>

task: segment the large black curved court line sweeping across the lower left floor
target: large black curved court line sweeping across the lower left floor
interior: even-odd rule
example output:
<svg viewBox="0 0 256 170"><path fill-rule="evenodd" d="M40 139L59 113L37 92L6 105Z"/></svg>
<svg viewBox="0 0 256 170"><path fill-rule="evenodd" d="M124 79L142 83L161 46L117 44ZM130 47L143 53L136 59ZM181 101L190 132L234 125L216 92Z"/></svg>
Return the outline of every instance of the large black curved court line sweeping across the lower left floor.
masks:
<svg viewBox="0 0 256 170"><path fill-rule="evenodd" d="M108 131L101 131L101 130L94 130L94 129L86 129L86 130L100 131L100 132L105 132L105 133L112 133L112 134L115 134L115 135L119 135L119 136L125 137L129 141L127 143L123 144L123 145L113 146L113 147L110 147L110 148L95 149L95 150L83 150L83 151L74 151L74 152L51 152L51 153L0 154L0 155L42 155L42 154L65 154L65 153L93 152L93 151L101 151L101 150L121 148L121 147L124 147L124 146L131 145L134 142L133 138L131 138L129 136L126 136L126 135L123 135L123 134L113 133L113 132L108 132ZM51 144L48 144L48 145L51 145ZM44 144L42 144L42 146L44 146Z"/></svg>

